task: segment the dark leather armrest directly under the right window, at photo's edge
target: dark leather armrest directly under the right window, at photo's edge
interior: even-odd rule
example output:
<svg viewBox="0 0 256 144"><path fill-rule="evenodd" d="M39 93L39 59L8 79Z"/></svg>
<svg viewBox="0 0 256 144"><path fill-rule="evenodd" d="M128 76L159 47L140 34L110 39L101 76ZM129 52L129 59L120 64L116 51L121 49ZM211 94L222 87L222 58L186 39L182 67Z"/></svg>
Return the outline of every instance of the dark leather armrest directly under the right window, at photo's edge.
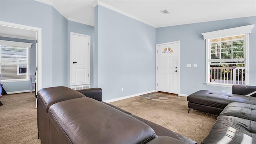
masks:
<svg viewBox="0 0 256 144"><path fill-rule="evenodd" d="M232 86L232 94L256 97L256 86L236 85Z"/></svg>

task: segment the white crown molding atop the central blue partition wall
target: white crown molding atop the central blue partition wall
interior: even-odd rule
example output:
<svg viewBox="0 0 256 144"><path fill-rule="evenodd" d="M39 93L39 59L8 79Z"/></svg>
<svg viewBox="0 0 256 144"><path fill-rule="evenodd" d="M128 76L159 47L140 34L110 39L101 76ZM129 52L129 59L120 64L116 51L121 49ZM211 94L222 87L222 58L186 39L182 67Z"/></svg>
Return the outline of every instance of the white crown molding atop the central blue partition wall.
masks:
<svg viewBox="0 0 256 144"><path fill-rule="evenodd" d="M125 16L128 16L128 17L130 17L130 18L133 18L133 19L135 19L135 20L138 20L138 21L140 21L140 22L143 22L144 24L148 24L148 25L150 25L150 26L156 28L156 25L151 24L150 22L147 22L147 21L142 20L142 19L140 19L140 18L137 18L136 16L133 16L133 15L131 15L131 14L128 14L127 12L124 12L124 11L122 11L122 10L119 10L118 8L114 8L113 6L110 6L110 5L108 5L108 4L105 4L104 2L100 2L100 1L97 0L97 1L95 1L95 2L92 3L92 7L94 7L94 8L95 8L97 5L104 6L105 8L108 8L108 9L110 9L110 10L113 10L113 11L115 11L115 12L118 12L118 13L120 13L120 14L123 14L123 15L125 15Z"/></svg>

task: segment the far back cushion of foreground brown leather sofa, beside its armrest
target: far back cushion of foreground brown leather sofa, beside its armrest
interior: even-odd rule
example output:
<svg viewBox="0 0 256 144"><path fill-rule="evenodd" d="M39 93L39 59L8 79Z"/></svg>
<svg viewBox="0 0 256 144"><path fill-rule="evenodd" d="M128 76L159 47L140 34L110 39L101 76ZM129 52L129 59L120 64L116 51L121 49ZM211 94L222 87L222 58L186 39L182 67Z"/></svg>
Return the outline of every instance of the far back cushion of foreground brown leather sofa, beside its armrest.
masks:
<svg viewBox="0 0 256 144"><path fill-rule="evenodd" d="M65 86L43 88L38 91L38 98L42 100L42 105L45 107L47 113L52 104L82 97L85 97L82 93Z"/></svg>

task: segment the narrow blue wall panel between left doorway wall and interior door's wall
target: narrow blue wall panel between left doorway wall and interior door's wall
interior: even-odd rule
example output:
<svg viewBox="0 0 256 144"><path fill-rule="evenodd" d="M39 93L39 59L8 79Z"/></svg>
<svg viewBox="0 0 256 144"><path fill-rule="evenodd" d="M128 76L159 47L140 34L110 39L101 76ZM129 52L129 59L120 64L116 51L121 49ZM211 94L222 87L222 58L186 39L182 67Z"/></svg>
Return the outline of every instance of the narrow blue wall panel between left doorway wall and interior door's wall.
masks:
<svg viewBox="0 0 256 144"><path fill-rule="evenodd" d="M68 20L52 7L52 86L68 86Z"/></svg>

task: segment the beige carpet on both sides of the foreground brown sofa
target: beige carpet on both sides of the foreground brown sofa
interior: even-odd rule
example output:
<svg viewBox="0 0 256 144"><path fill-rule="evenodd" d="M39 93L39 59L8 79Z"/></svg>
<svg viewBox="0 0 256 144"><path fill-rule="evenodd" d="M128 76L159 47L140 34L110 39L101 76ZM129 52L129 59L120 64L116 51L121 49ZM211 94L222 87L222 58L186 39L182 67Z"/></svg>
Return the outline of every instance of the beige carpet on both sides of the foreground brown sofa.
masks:
<svg viewBox="0 0 256 144"><path fill-rule="evenodd" d="M40 144L34 93L8 94L0 98L0 144ZM112 102L134 115L160 124L200 143L217 116L190 110L186 97L160 102L136 96Z"/></svg>

